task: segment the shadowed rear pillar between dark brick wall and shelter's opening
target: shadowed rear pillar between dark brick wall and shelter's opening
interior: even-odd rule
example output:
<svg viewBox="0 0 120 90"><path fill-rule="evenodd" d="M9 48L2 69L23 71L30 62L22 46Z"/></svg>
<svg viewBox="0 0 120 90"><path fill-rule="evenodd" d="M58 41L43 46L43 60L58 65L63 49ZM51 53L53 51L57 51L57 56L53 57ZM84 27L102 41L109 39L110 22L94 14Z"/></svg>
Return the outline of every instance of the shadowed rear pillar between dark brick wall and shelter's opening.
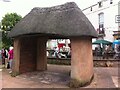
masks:
<svg viewBox="0 0 120 90"><path fill-rule="evenodd" d="M47 70L46 42L44 37L39 37L37 41L37 70L41 71Z"/></svg>

